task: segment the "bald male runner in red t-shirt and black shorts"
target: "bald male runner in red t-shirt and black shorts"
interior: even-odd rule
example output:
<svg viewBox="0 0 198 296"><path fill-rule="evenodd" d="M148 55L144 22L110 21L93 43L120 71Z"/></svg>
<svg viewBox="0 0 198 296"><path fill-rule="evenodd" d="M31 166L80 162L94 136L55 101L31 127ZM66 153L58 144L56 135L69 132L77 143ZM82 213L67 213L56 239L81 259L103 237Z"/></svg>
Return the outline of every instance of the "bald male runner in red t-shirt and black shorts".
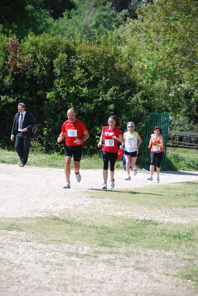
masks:
<svg viewBox="0 0 198 296"><path fill-rule="evenodd" d="M89 138L88 131L82 121L76 118L76 112L73 108L67 111L67 120L64 122L61 134L57 140L60 143L66 136L65 146L65 174L66 185L64 188L70 188L70 165L73 155L73 166L76 175L76 181L80 182L81 176L79 173L80 159L82 156L82 145Z"/></svg>

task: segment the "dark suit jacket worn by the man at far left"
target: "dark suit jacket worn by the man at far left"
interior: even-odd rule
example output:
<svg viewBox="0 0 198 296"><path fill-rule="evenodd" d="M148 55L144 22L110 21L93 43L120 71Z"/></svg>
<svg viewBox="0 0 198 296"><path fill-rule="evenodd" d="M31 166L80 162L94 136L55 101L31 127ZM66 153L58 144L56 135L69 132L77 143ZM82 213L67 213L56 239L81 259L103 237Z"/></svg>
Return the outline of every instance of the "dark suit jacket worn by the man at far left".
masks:
<svg viewBox="0 0 198 296"><path fill-rule="evenodd" d="M12 126L12 135L16 136L18 133L18 128L19 128L19 116L20 112L17 112L14 117L14 122ZM33 114L31 112L26 111L26 115L23 120L23 128L27 128L27 130L31 130L35 125L35 121L33 118ZM23 134L26 134L27 136L29 135L29 132L25 132Z"/></svg>

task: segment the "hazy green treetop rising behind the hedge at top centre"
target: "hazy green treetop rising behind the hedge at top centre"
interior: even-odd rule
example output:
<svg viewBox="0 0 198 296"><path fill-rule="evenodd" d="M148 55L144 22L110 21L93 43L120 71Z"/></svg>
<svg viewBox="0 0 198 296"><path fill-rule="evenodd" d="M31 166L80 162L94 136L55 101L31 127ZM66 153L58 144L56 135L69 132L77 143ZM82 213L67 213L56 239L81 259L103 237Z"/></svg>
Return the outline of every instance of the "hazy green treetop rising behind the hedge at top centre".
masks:
<svg viewBox="0 0 198 296"><path fill-rule="evenodd" d="M94 0L73 0L73 3L75 9L66 10L63 18L59 18L53 25L52 31L55 35L60 34L68 38L76 35L81 40L86 38L89 41L96 38L107 39L128 14L127 10L116 13L110 2L105 6L99 1L96 4Z"/></svg>

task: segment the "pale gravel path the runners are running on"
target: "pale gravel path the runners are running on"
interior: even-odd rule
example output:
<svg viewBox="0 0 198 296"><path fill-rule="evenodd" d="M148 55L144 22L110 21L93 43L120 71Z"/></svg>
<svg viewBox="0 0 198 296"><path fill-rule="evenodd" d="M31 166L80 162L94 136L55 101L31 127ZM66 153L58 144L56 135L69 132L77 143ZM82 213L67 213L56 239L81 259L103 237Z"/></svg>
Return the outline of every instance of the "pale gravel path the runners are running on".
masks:
<svg viewBox="0 0 198 296"><path fill-rule="evenodd" d="M82 170L81 176L81 182L76 183L71 172L71 188L63 189L64 170L0 164L0 217L43 216L45 211L48 215L49 211L72 208L85 200L91 202L87 201L84 191L101 188L102 170ZM117 170L114 190L157 186L156 175L153 182L147 181L148 176L149 173L139 171L131 181L125 181L127 173ZM166 171L160 175L160 184L166 185L193 180L198 180L198 172Z"/></svg>

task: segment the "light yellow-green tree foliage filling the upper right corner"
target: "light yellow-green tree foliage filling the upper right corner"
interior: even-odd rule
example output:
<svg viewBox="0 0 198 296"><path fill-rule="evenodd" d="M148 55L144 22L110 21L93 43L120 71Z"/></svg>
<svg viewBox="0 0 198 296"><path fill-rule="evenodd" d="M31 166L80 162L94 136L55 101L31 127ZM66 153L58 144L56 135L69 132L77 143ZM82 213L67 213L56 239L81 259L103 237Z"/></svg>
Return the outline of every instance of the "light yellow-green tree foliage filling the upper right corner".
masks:
<svg viewBox="0 0 198 296"><path fill-rule="evenodd" d="M120 28L126 58L130 59L135 47L138 59L133 69L137 65L146 91L164 89L164 95L160 91L153 100L156 111L182 110L189 121L197 123L198 2L160 0L138 14L137 21Z"/></svg>

